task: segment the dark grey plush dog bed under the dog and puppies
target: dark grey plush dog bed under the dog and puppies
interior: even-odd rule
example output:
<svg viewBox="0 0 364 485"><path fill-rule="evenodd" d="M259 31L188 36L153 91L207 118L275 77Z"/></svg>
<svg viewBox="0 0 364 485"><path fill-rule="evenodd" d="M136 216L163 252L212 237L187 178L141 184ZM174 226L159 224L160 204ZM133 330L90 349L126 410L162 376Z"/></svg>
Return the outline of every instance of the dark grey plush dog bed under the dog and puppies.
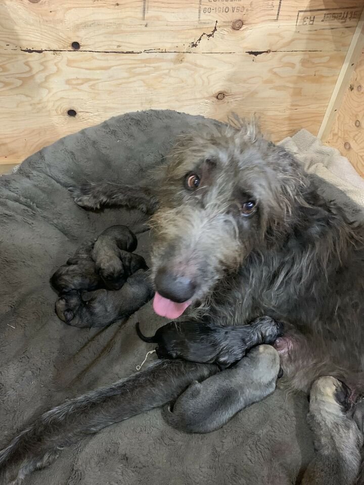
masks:
<svg viewBox="0 0 364 485"><path fill-rule="evenodd" d="M56 317L49 278L82 241L123 223L138 234L136 252L147 262L150 246L143 214L84 211L66 187L140 180L177 134L203 123L215 122L172 111L112 118L0 178L0 448L41 411L135 372L153 349L136 336L135 321L145 333L165 323L151 304L105 329L74 328ZM292 484L312 456L306 413L304 396L278 390L218 431L187 435L155 410L65 450L25 484Z"/></svg>

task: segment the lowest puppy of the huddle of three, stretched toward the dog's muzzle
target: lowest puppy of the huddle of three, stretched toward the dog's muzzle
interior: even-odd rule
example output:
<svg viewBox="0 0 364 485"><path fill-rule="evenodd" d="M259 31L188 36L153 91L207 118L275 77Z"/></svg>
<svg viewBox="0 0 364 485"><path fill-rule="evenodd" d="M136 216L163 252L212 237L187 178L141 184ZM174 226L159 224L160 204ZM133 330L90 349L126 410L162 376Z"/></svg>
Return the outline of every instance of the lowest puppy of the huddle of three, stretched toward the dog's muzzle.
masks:
<svg viewBox="0 0 364 485"><path fill-rule="evenodd" d="M154 292L146 271L132 274L121 289L97 289L63 295L56 302L58 317L74 327L104 327L127 318L153 298Z"/></svg>

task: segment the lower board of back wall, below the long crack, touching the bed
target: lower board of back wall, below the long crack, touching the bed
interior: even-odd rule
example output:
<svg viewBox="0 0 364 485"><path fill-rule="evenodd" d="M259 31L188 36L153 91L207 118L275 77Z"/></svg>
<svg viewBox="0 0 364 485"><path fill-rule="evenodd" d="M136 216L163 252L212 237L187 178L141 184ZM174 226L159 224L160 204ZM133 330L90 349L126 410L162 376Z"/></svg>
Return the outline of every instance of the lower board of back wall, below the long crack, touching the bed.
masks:
<svg viewBox="0 0 364 485"><path fill-rule="evenodd" d="M256 113L275 140L303 126L315 132L344 56L8 51L0 55L0 160L17 163L68 133L149 108L219 120Z"/></svg>

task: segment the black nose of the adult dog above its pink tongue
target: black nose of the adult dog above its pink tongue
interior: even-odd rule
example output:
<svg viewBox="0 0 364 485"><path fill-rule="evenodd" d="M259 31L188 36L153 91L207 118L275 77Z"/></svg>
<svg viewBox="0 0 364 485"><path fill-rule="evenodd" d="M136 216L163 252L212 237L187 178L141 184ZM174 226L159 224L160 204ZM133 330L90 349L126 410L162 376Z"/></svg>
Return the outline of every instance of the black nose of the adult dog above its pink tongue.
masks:
<svg viewBox="0 0 364 485"><path fill-rule="evenodd" d="M157 271L154 282L162 297L176 303L187 302L196 290L196 284L190 278L178 276L164 268Z"/></svg>

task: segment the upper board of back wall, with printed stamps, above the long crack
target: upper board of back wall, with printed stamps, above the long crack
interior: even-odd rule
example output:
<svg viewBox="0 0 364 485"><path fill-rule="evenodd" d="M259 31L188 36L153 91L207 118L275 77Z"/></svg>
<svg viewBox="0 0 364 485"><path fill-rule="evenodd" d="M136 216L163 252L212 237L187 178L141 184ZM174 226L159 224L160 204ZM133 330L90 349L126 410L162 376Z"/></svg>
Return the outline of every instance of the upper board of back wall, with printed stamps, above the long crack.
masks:
<svg viewBox="0 0 364 485"><path fill-rule="evenodd" d="M229 12L204 14L208 5ZM78 42L82 51L119 53L346 52L361 9L362 0L311 0L309 8L306 0L2 0L0 48L72 51Z"/></svg>

